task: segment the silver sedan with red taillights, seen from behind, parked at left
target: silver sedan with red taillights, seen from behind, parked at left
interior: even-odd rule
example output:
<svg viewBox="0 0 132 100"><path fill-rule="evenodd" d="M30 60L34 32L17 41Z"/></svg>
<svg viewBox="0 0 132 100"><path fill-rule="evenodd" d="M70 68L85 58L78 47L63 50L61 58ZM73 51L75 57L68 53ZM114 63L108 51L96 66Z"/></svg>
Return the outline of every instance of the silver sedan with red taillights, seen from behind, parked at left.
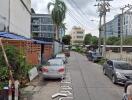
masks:
<svg viewBox="0 0 132 100"><path fill-rule="evenodd" d="M66 74L65 65L61 59L51 59L42 67L42 73L46 79L63 79Z"/></svg>

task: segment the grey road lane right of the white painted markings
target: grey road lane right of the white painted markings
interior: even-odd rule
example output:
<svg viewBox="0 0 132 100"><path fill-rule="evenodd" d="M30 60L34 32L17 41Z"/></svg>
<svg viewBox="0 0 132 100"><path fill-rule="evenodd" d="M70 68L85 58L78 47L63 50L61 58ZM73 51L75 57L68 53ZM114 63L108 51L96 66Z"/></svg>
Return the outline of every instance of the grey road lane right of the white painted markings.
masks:
<svg viewBox="0 0 132 100"><path fill-rule="evenodd" d="M74 100L121 100L123 86L112 84L103 75L102 66L71 52L67 67L71 74Z"/></svg>

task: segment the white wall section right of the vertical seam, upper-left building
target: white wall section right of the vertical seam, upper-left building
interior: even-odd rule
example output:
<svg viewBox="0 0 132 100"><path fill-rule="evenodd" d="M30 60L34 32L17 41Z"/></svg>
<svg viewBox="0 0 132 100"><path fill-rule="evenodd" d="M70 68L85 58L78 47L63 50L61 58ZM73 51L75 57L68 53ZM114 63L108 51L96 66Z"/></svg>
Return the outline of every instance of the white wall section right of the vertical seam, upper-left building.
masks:
<svg viewBox="0 0 132 100"><path fill-rule="evenodd" d="M30 11L31 2L26 0L26 6ZM20 0L11 0L10 14L10 31L19 35L30 37L31 31L31 15L20 2Z"/></svg>

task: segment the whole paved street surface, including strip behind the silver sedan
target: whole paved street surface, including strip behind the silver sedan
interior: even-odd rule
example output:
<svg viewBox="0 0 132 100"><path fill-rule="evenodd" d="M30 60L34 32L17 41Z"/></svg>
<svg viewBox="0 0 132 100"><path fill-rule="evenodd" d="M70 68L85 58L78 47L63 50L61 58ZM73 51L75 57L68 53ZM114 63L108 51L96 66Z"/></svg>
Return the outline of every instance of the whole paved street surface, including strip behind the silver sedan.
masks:
<svg viewBox="0 0 132 100"><path fill-rule="evenodd" d="M33 95L33 100L52 100L51 96L58 92L64 92L63 86L69 89L69 99L64 100L121 100L123 86L114 85L111 80L103 75L102 67L89 62L85 56L71 52L68 59L67 76L70 81L60 80L41 80L40 91ZM69 83L68 83L69 82ZM67 92L68 93L68 92ZM53 100L58 100L55 98ZM60 99L63 100L63 99Z"/></svg>

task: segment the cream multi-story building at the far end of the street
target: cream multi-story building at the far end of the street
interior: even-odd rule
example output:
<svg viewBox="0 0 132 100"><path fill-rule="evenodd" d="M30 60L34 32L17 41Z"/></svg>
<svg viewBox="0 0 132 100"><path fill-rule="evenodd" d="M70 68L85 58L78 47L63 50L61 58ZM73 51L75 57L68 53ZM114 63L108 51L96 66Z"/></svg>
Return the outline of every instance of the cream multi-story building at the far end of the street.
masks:
<svg viewBox="0 0 132 100"><path fill-rule="evenodd" d="M74 26L71 30L71 44L72 45L82 45L83 44L83 41L84 41L84 33L85 33L85 30L82 29L81 27L76 27Z"/></svg>

